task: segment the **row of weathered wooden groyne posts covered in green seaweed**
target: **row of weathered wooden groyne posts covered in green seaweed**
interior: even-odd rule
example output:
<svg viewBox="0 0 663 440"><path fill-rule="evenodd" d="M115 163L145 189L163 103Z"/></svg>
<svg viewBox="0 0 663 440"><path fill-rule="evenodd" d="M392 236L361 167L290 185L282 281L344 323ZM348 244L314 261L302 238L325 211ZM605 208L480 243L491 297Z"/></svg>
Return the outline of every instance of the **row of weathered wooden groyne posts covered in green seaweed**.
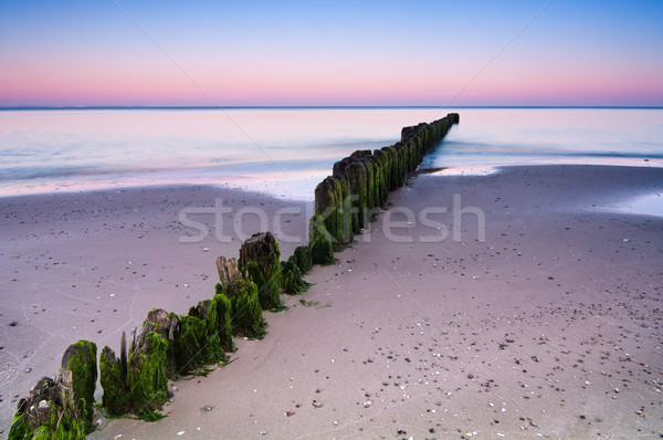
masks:
<svg viewBox="0 0 663 440"><path fill-rule="evenodd" d="M401 130L401 140L381 149L355 151L334 164L333 175L315 189L315 214L308 243L280 261L271 232L256 233L240 249L239 259L217 260L220 283L214 295L187 315L152 310L129 341L123 333L119 354L104 347L98 356L103 396L97 406L110 417L133 413L146 420L169 397L168 380L204 374L228 362L233 335L265 334L264 310L284 308L280 295L308 289L303 274L313 264L333 264L334 252L350 243L401 187L409 172L446 135L457 114ZM60 373L42 378L19 401L8 436L18 439L84 439L93 423L97 383L97 347L78 341L64 353Z"/></svg>

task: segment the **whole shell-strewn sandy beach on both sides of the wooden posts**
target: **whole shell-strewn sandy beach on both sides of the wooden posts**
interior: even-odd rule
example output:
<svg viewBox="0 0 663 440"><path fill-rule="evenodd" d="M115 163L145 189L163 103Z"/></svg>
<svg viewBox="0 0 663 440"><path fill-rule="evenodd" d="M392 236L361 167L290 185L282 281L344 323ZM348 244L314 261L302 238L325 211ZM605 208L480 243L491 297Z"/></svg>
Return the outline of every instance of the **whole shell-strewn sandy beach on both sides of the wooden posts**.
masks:
<svg viewBox="0 0 663 440"><path fill-rule="evenodd" d="M627 210L662 188L661 168L419 175L287 311L264 313L264 339L172 383L167 418L103 420L90 438L659 438L663 218ZM214 259L241 241L179 243L177 212L213 193L129 191L96 217L109 193L3 202L3 427L69 343L115 347L149 308L211 296Z"/></svg>

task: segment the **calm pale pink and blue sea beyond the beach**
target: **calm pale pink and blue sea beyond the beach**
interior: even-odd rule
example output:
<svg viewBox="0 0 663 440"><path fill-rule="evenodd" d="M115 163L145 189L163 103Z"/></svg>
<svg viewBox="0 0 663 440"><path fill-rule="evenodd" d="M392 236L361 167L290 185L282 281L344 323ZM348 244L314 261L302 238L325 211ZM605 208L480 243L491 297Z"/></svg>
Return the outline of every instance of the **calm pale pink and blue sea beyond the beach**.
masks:
<svg viewBox="0 0 663 440"><path fill-rule="evenodd" d="M661 108L1 109L0 196L213 184L311 200L335 161L450 112L423 168L663 167Z"/></svg>

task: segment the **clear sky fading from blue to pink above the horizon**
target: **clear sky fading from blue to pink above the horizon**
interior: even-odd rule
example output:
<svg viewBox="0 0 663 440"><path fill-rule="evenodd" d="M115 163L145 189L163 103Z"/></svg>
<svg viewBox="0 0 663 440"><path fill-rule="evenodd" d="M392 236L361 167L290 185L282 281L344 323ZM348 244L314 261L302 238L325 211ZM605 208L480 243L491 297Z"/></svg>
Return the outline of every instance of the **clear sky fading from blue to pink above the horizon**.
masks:
<svg viewBox="0 0 663 440"><path fill-rule="evenodd" d="M0 0L0 106L663 106L663 1Z"/></svg>

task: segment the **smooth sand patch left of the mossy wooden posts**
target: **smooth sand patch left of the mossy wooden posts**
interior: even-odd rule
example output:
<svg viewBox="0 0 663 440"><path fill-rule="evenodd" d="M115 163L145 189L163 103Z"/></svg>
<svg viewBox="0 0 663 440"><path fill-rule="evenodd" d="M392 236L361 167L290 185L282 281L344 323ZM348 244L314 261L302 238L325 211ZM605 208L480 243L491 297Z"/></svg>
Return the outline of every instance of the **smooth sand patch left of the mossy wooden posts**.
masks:
<svg viewBox="0 0 663 440"><path fill-rule="evenodd" d="M236 256L242 235L276 224L282 252L290 254L301 244L307 216L299 201L187 186L22 196L0 199L0 431L6 433L18 399L41 377L57 373L70 344L90 339L98 352L105 345L118 349L122 332L140 328L149 310L186 314L213 295L215 259ZM188 219L204 224L204 240L180 242L200 234L180 222L186 209L202 211Z"/></svg>

